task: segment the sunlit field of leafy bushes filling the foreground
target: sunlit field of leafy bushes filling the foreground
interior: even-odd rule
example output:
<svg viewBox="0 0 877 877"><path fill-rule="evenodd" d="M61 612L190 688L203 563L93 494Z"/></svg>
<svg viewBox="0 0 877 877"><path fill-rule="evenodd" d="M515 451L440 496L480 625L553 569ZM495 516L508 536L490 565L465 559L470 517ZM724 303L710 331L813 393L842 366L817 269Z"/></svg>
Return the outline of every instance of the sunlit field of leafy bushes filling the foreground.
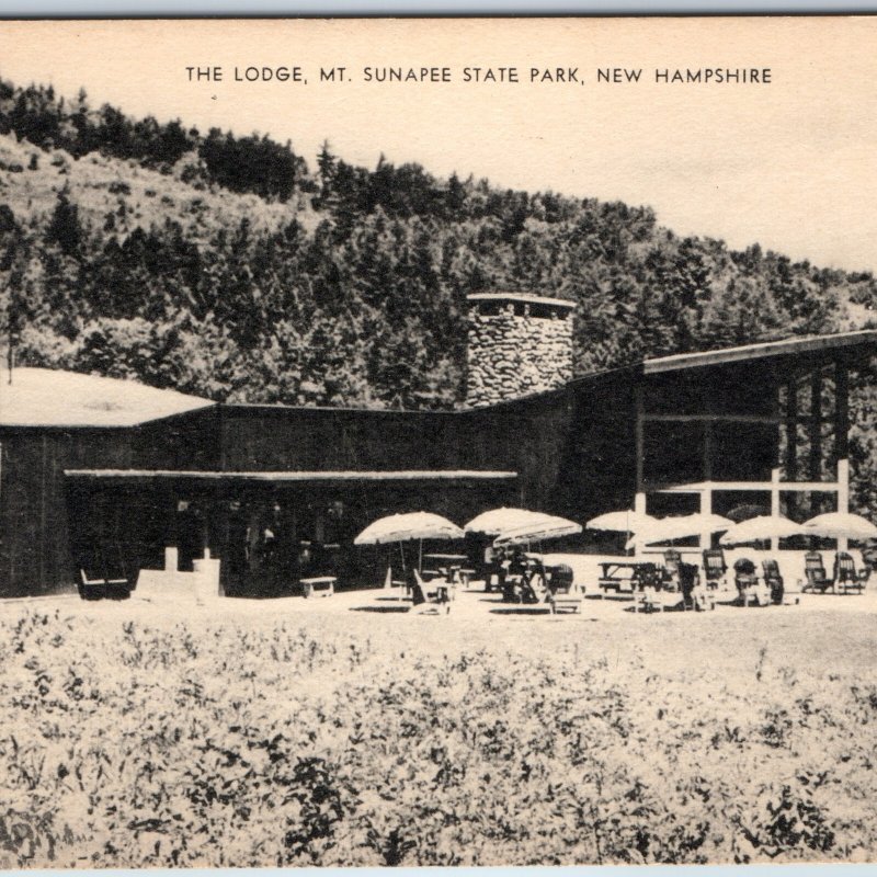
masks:
<svg viewBox="0 0 877 877"><path fill-rule="evenodd" d="M867 617L113 612L0 622L2 867L874 858Z"/></svg>

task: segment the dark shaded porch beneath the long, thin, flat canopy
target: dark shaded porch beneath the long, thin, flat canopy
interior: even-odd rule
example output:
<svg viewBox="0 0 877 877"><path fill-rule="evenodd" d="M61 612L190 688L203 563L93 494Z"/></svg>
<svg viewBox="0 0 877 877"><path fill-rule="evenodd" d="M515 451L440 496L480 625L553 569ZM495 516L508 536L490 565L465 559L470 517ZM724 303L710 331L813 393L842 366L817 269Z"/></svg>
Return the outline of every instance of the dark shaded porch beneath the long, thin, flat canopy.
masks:
<svg viewBox="0 0 877 877"><path fill-rule="evenodd" d="M65 475L76 558L98 546L128 569L172 579L209 557L219 560L223 593L263 597L295 593L311 576L334 576L342 588L374 585L390 549L353 546L371 521L421 509L464 521L508 502L516 481L514 471L498 470Z"/></svg>

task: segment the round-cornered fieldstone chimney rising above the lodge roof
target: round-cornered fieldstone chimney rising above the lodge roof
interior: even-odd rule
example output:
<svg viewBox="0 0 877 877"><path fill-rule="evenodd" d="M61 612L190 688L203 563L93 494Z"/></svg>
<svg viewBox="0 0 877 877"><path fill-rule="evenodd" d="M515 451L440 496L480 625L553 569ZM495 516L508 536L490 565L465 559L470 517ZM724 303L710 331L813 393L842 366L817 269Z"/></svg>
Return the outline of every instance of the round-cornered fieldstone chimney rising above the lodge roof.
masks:
<svg viewBox="0 0 877 877"><path fill-rule="evenodd" d="M477 293L467 300L467 408L572 379L572 301L521 293Z"/></svg>

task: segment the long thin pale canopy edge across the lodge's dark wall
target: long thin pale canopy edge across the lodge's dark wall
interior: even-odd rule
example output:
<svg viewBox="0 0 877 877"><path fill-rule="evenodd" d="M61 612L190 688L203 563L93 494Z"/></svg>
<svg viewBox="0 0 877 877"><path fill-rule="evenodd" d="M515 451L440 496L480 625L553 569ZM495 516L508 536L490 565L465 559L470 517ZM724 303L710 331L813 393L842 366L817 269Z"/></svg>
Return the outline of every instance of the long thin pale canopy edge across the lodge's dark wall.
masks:
<svg viewBox="0 0 877 877"><path fill-rule="evenodd" d="M65 469L68 478L185 478L205 481L417 481L498 480L517 478L517 472L485 469L402 469L396 471L212 471L195 469Z"/></svg>

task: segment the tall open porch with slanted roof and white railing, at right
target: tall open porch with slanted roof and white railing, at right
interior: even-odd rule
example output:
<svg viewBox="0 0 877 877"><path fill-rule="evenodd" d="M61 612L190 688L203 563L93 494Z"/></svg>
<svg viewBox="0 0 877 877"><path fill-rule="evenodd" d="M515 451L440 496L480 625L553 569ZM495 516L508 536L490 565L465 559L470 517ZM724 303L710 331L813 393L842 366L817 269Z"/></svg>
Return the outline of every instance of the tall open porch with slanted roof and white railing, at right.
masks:
<svg viewBox="0 0 877 877"><path fill-rule="evenodd" d="M877 332L861 331L646 361L634 508L798 522L848 511L850 373L876 352Z"/></svg>

